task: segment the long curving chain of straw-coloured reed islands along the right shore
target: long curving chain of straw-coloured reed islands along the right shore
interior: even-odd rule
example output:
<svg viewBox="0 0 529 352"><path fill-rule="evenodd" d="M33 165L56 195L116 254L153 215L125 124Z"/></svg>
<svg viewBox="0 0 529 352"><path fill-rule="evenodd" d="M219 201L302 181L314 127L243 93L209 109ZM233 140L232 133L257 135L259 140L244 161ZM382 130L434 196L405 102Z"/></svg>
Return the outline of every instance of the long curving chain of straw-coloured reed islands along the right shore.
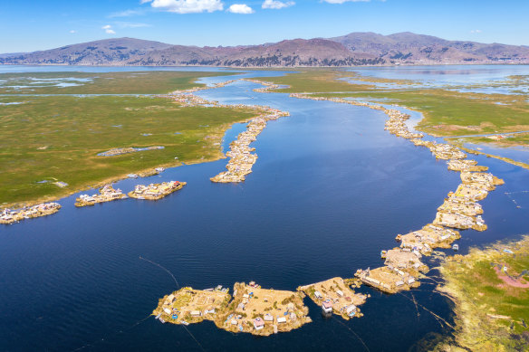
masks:
<svg viewBox="0 0 529 352"><path fill-rule="evenodd" d="M436 158L448 160L448 169L461 172L462 184L457 187L455 193L450 192L445 203L439 206L433 224L428 224L422 230L406 235L399 234L397 240L401 241L400 247L380 252L382 258L386 258L385 266L374 270L359 269L356 272L355 276L359 277L362 282L388 293L417 287L419 285L419 271L428 271L428 267L420 262L421 256L423 254L429 255L436 247L449 248L451 243L460 238L457 231L443 226L457 229L472 228L477 231L486 230L486 224L479 215L483 213L482 207L476 202L484 199L488 191L494 190L496 185L504 183L503 180L491 174L480 173L487 170L486 166L477 166L475 160L463 160L466 159L466 154L457 147L423 140L421 139L424 137L423 134L410 132L405 123L409 119L409 115L399 110L340 98L328 99L311 97L306 94L291 94L291 97L331 100L370 109L380 109L390 117L386 121L385 129L391 134L407 138L416 146L428 147Z"/></svg>

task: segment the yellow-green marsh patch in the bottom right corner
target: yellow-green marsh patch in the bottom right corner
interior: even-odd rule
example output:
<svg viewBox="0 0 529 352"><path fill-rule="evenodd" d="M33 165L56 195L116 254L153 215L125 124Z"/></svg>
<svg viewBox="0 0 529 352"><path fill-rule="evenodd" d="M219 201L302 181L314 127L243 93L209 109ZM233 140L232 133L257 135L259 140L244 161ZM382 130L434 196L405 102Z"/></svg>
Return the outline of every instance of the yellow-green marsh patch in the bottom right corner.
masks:
<svg viewBox="0 0 529 352"><path fill-rule="evenodd" d="M438 351L525 350L529 344L529 237L448 257L438 290L454 300L456 330Z"/></svg>

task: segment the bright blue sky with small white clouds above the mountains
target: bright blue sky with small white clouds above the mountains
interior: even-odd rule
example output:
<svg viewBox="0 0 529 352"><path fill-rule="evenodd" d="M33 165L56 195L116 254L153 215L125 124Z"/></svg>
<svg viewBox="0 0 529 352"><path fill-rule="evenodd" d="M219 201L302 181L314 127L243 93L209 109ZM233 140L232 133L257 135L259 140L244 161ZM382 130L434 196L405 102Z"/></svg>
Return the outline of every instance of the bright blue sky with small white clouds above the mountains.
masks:
<svg viewBox="0 0 529 352"><path fill-rule="evenodd" d="M529 45L529 0L2 0L0 52L132 37L228 46L351 32Z"/></svg>

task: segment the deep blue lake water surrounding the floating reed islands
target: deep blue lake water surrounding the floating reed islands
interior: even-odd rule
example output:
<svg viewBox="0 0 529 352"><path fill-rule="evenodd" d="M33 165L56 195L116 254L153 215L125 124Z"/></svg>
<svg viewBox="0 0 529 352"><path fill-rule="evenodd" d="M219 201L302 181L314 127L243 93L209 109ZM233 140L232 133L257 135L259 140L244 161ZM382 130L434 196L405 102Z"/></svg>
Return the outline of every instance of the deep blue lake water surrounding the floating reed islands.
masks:
<svg viewBox="0 0 529 352"><path fill-rule="evenodd" d="M295 290L380 265L380 250L395 246L397 233L431 222L460 182L427 148L385 131L387 116L378 110L256 93L257 87L236 82L198 93L291 112L269 122L252 145L259 158L244 183L209 181L226 159L180 166L116 185L129 191L141 183L188 182L157 202L75 208L73 195L60 201L58 214L0 227L0 350L361 351L365 344L371 351L408 351L432 333L449 333L412 301L451 321L450 303L432 291L433 281L392 296L362 287L371 295L361 306L365 316L349 321L323 319L305 300L313 323L269 338L233 335L211 322L190 325L201 347L183 327L149 318L176 284L139 256L168 268L181 286L257 281ZM225 150L244 128L226 132ZM489 228L463 232L463 253L529 228L529 209L513 202L529 188L529 171L476 159L505 186L481 202Z"/></svg>

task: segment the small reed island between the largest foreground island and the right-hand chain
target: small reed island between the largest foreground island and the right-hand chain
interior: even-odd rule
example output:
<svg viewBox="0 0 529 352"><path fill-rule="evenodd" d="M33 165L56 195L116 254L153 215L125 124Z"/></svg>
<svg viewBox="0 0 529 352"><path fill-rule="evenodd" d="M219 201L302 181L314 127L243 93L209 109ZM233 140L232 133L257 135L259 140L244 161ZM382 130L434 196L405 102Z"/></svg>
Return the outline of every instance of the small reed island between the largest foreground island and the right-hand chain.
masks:
<svg viewBox="0 0 529 352"><path fill-rule="evenodd" d="M358 306L367 300L366 295L351 290L351 285L358 287L360 282L357 282L357 279L332 278L327 281L300 286L297 290L303 291L314 303L322 307L323 315L331 316L334 313L349 320L353 317L360 318L363 316Z"/></svg>

